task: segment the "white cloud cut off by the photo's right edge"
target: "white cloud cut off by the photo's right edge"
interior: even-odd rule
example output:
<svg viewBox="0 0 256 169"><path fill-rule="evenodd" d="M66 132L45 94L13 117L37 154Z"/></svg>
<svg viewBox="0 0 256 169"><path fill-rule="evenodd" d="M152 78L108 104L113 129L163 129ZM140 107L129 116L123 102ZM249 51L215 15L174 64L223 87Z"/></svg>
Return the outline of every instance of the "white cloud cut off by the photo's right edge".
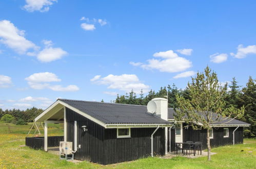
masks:
<svg viewBox="0 0 256 169"><path fill-rule="evenodd" d="M248 54L256 54L256 45L251 45L247 47L243 47L243 45L238 46L238 52L237 54L230 53L231 56L234 56L235 58L245 58Z"/></svg>

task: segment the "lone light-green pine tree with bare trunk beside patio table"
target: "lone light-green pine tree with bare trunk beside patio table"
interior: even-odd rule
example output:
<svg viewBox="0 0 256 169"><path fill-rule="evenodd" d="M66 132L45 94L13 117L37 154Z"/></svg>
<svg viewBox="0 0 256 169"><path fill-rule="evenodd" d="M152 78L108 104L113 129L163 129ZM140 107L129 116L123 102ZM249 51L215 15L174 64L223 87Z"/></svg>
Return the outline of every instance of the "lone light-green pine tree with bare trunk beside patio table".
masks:
<svg viewBox="0 0 256 169"><path fill-rule="evenodd" d="M192 78L192 82L188 83L187 88L191 99L176 95L180 109L175 110L177 113L175 118L178 121L184 120L193 129L198 129L199 126L196 124L201 124L200 128L207 130L207 150L208 160L210 160L211 124L216 121L223 121L231 116L241 116L244 113L244 108L242 107L240 110L235 109L233 106L226 108L224 94L227 90L227 84L221 87L217 74L211 72L208 66L205 68L204 73L198 72L196 77ZM217 117L214 114L217 114ZM225 123L229 121L226 120Z"/></svg>

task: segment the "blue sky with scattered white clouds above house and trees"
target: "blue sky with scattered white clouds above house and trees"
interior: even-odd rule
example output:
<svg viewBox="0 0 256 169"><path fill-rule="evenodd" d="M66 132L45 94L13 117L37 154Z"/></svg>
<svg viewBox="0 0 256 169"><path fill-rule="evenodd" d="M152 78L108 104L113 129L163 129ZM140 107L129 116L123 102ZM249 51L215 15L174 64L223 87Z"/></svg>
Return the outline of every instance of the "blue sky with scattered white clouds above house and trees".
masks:
<svg viewBox="0 0 256 169"><path fill-rule="evenodd" d="M0 1L0 108L255 78L255 1Z"/></svg>

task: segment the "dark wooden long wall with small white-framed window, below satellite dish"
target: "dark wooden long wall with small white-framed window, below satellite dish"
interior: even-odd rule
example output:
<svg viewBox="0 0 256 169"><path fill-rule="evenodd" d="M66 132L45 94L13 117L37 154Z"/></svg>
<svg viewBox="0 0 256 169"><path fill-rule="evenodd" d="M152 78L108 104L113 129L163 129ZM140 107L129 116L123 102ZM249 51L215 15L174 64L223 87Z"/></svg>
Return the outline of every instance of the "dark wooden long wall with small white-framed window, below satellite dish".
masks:
<svg viewBox="0 0 256 169"><path fill-rule="evenodd" d="M151 155L151 134L156 128L131 128L130 138L116 138L116 129L106 129L104 139L105 164L130 161ZM153 136L154 155L165 154L164 128Z"/></svg>

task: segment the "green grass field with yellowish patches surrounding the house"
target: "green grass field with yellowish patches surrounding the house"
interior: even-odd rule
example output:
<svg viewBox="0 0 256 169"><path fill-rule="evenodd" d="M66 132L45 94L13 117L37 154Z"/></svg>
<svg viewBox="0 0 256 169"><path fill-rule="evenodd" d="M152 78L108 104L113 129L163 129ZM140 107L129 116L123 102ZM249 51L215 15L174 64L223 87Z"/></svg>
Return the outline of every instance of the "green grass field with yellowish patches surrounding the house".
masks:
<svg viewBox="0 0 256 169"><path fill-rule="evenodd" d="M212 155L211 161L207 161L207 157L149 157L119 164L100 165L87 161L67 162L58 159L57 155L30 149L24 144L32 124L8 125L0 123L0 168L256 168L256 139L245 139L245 144L212 149L212 152L217 154ZM49 124L48 134L62 135L63 126Z"/></svg>

